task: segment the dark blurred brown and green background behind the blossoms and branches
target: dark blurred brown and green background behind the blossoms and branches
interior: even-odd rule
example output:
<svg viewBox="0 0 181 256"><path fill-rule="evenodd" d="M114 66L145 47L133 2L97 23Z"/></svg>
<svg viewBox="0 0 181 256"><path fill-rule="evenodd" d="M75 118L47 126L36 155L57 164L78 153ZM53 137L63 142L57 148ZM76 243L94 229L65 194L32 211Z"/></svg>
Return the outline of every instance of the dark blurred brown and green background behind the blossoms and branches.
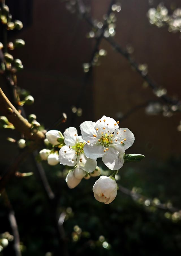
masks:
<svg viewBox="0 0 181 256"><path fill-rule="evenodd" d="M111 3L6 1L13 20L23 22L22 30L8 32L9 40L25 40L25 47L10 52L24 66L17 74L18 86L35 98L32 106L25 106L27 115L36 114L45 128L51 127L62 112L67 114L67 122L59 126L61 132L69 126L78 129L85 120L96 122L103 115L110 116L135 135L135 143L126 153L145 155L142 162L124 164L118 173L120 188L132 191L132 196L122 188L109 205L93 197L96 177L82 180L70 190L63 167L44 163L57 194L57 214L63 212L65 216L69 254L126 256L136 251L139 255L176 255L181 251L181 12L180 16L173 12L181 4L165 0L158 7L158 0L129 0L115 2L110 9ZM83 7L87 15L81 14ZM157 8L158 13L150 8ZM111 16L106 17L109 9ZM165 16L176 17L177 26ZM99 29L105 28L109 19L111 26L101 35ZM109 40L130 54L140 72ZM156 89L145 81L147 74ZM3 80L1 87L8 96ZM7 137L19 139L20 134L1 130L1 170L18 154L16 145ZM102 174L108 175L105 165L101 161L98 164ZM20 171L34 172L31 158ZM7 193L19 227L22 255L57 255L51 209L36 173L13 178ZM136 193L145 197L137 197ZM165 209L159 208L160 202ZM12 234L2 199L0 216L0 233ZM15 255L13 241L2 255Z"/></svg>

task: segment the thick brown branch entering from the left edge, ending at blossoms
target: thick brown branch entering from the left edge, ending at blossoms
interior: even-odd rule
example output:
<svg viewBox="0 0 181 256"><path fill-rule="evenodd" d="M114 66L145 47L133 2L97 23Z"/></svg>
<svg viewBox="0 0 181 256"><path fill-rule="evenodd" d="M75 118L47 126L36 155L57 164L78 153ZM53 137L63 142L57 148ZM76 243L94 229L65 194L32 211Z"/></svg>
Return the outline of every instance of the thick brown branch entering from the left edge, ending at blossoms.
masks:
<svg viewBox="0 0 181 256"><path fill-rule="evenodd" d="M6 95L0 88L0 112L7 117L8 121L11 122L16 130L21 132L25 138L31 139L39 144L45 138L42 132L32 133L31 124L24 119L18 110L11 104Z"/></svg>

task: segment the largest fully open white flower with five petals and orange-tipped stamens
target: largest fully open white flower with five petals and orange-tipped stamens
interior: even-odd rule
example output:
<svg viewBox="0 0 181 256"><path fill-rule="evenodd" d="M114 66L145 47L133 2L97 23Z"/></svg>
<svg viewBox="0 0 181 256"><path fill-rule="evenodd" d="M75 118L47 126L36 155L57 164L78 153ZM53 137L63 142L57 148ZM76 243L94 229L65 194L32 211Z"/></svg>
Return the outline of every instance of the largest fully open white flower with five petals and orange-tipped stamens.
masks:
<svg viewBox="0 0 181 256"><path fill-rule="evenodd" d="M82 138L87 142L84 153L91 159L102 157L104 164L111 170L118 170L124 163L124 150L134 142L133 133L120 128L119 122L103 116L96 123L85 121L80 125Z"/></svg>

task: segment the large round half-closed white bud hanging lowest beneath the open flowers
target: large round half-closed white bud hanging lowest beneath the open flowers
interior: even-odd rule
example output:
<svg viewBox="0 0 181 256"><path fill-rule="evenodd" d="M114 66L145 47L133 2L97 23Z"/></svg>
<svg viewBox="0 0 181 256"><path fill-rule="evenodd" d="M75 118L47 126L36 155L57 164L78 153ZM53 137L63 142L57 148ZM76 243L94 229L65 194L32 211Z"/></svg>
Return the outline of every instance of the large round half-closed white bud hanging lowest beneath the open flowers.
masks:
<svg viewBox="0 0 181 256"><path fill-rule="evenodd" d="M101 176L92 188L94 197L105 205L111 203L117 195L117 183L113 177Z"/></svg>

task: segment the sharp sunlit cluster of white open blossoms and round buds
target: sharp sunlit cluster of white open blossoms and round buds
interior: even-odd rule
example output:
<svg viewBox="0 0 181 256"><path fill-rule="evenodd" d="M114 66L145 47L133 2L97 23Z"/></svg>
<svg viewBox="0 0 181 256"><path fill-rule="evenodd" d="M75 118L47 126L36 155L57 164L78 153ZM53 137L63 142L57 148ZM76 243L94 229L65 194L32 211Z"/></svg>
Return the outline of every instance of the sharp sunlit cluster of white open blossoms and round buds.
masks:
<svg viewBox="0 0 181 256"><path fill-rule="evenodd" d="M105 204L111 203L117 195L115 174L124 164L124 152L134 142L134 135L128 128L119 128L119 122L103 116L97 122L85 121L80 125L81 136L75 127L69 127L62 134L57 130L46 133L45 144L39 154L48 164L58 163L70 167L66 176L69 188L75 188L83 178L99 176L97 158L112 171L110 177L101 176L93 186L94 197Z"/></svg>

